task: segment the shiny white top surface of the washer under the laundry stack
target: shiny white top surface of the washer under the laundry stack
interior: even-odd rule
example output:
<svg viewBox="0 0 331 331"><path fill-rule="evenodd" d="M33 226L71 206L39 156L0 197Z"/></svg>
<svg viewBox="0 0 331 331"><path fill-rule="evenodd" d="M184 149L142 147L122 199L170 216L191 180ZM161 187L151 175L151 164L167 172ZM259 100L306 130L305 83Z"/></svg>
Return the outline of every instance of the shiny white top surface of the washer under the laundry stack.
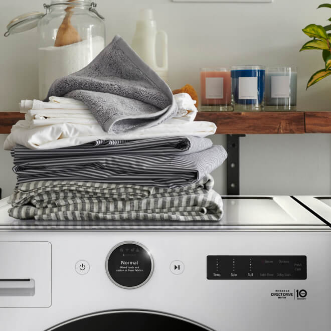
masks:
<svg viewBox="0 0 331 331"><path fill-rule="evenodd" d="M219 222L17 220L8 215L5 198L0 200L0 230L331 230L289 196L222 198L224 215Z"/></svg>

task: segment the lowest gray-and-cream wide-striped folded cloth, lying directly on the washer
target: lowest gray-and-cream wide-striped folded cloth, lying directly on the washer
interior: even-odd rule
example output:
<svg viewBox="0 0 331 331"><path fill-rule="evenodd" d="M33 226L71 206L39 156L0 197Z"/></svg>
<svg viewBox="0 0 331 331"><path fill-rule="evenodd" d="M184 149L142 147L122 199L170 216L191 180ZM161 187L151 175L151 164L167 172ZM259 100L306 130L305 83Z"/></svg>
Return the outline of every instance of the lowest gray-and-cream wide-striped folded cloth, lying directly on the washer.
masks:
<svg viewBox="0 0 331 331"><path fill-rule="evenodd" d="M214 190L155 199L105 201L84 198L72 202L60 207L13 207L9 215L18 219L68 221L219 221L223 214L222 198Z"/></svg>

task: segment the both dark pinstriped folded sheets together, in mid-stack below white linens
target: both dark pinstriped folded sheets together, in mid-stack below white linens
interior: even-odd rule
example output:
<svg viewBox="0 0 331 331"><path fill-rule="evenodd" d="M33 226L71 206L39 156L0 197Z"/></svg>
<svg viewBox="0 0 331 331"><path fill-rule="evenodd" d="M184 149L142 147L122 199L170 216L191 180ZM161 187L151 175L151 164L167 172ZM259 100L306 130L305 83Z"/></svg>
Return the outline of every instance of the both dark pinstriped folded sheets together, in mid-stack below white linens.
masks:
<svg viewBox="0 0 331 331"><path fill-rule="evenodd" d="M79 181L163 188L187 186L219 167L223 146L207 138L175 137L97 142L51 150L12 150L17 184L32 181ZM88 145L88 146L87 146Z"/></svg>

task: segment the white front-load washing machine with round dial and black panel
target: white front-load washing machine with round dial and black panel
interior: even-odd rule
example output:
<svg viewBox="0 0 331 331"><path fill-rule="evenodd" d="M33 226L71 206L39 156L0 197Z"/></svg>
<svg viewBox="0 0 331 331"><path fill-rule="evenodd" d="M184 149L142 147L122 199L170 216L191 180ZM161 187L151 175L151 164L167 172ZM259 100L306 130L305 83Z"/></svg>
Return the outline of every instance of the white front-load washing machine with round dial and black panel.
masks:
<svg viewBox="0 0 331 331"><path fill-rule="evenodd" d="M291 197L219 223L62 222L0 210L1 331L331 329L331 229Z"/></svg>

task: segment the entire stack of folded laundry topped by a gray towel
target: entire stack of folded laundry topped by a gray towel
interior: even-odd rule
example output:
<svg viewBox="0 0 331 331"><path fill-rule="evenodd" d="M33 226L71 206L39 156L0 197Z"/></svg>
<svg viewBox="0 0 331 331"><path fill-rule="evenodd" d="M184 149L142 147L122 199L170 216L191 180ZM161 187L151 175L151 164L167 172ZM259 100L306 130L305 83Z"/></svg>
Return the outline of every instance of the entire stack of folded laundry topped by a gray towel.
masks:
<svg viewBox="0 0 331 331"><path fill-rule="evenodd" d="M125 55L125 56L124 56ZM107 61L106 61L107 60ZM210 173L227 157L120 38L86 68L55 81L49 101L23 100L5 141L17 186L10 216L36 220L218 221Z"/></svg>

